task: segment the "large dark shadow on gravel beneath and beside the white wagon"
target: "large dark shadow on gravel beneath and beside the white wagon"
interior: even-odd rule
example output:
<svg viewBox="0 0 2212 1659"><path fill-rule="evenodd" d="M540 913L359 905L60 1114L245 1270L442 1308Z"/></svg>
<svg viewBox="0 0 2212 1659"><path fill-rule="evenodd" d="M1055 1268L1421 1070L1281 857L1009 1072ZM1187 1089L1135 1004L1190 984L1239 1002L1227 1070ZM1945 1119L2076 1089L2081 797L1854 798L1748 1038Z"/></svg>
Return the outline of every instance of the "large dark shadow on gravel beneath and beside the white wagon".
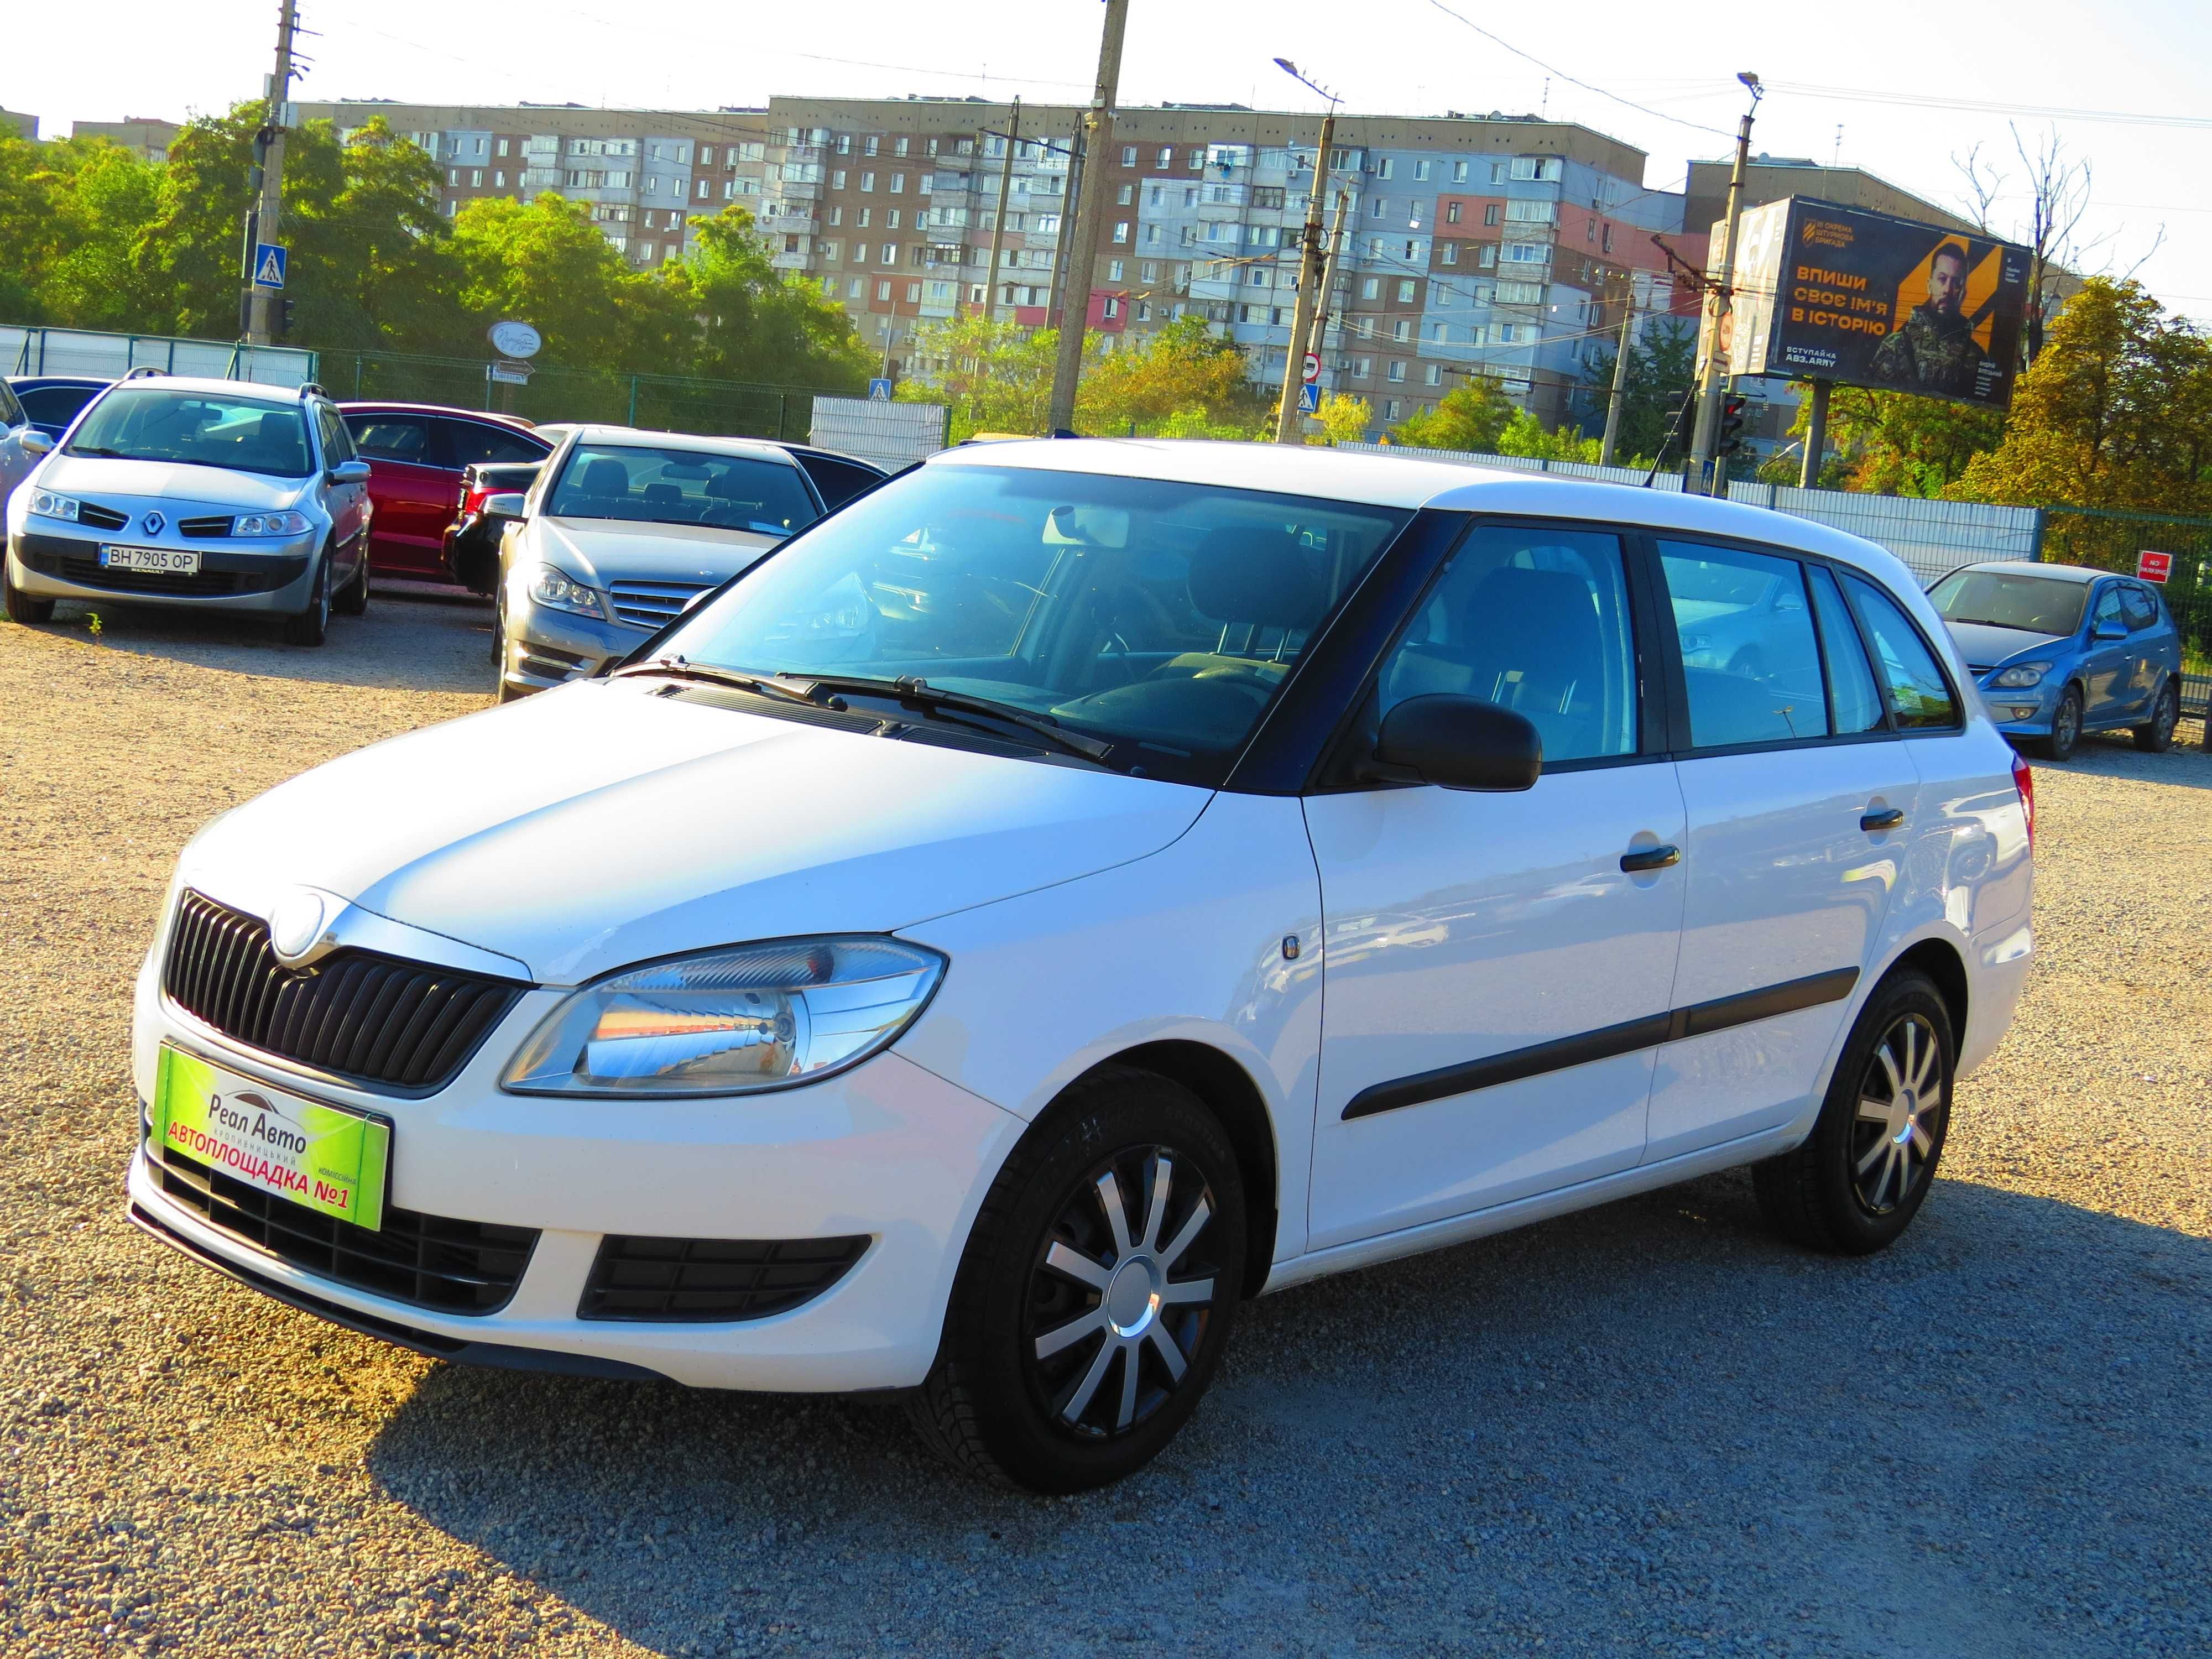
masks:
<svg viewBox="0 0 2212 1659"><path fill-rule="evenodd" d="M2203 1652L2208 1314L2203 1239L1944 1181L1836 1261L1732 1175L1248 1305L1079 1500L887 1407L465 1369L369 1469L668 1655Z"/></svg>

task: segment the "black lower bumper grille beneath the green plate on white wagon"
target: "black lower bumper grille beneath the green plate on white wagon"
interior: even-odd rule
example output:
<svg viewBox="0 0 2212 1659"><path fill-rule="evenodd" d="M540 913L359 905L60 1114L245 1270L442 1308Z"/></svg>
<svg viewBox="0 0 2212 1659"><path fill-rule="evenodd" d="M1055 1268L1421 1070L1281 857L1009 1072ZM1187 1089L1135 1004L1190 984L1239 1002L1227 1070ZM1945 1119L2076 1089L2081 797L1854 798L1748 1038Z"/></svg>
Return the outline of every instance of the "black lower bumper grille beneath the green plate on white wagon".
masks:
<svg viewBox="0 0 2212 1659"><path fill-rule="evenodd" d="M502 1310L538 1245L535 1228L451 1221L398 1206L385 1206L383 1228L356 1228L166 1146L153 1170L168 1197L254 1250L319 1279L442 1314Z"/></svg>

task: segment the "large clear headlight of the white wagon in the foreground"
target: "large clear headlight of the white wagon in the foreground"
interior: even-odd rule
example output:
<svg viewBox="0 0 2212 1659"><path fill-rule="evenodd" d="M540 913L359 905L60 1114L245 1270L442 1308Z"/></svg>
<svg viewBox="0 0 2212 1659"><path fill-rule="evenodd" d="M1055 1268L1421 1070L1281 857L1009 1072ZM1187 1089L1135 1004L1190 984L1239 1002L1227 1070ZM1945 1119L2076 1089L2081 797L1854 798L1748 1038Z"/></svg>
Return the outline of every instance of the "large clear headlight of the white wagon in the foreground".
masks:
<svg viewBox="0 0 2212 1659"><path fill-rule="evenodd" d="M887 1048L945 958L883 936L737 945L573 993L500 1077L524 1095L743 1095Z"/></svg>

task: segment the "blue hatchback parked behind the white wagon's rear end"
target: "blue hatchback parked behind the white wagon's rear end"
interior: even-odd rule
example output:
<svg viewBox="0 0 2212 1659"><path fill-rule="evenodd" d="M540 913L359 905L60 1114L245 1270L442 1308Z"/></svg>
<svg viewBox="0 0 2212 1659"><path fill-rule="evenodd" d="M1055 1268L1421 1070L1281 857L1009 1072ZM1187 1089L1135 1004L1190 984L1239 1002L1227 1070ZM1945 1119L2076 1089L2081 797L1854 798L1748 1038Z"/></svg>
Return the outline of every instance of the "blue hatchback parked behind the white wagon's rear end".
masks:
<svg viewBox="0 0 2212 1659"><path fill-rule="evenodd" d="M2077 564L1966 564L1929 588L1997 730L2053 761L2081 732L2166 750L2181 719L2181 633L2157 588Z"/></svg>

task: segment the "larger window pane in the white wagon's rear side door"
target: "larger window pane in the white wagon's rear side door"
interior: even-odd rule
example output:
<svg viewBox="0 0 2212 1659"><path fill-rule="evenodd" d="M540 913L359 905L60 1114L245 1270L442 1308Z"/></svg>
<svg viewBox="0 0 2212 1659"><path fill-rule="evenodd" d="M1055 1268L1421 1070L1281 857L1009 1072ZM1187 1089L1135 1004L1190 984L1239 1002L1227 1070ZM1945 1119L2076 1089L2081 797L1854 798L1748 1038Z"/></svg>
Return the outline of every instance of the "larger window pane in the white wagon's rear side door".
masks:
<svg viewBox="0 0 2212 1659"><path fill-rule="evenodd" d="M1701 750L1827 737L1827 688L1796 560L1659 542L1690 743Z"/></svg>

